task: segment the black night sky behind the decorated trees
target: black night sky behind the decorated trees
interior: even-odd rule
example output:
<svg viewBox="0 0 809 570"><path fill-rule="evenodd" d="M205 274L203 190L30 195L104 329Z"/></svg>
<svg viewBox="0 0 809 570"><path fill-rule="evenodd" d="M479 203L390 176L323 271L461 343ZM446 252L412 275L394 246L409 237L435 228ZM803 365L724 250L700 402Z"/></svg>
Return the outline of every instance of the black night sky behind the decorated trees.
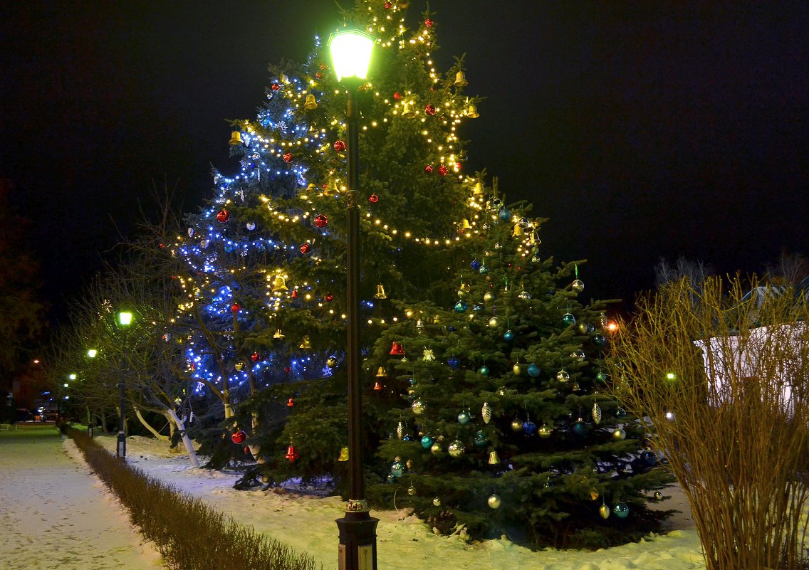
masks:
<svg viewBox="0 0 809 570"><path fill-rule="evenodd" d="M633 299L661 256L760 272L809 254L809 2L430 8L438 69L466 53L467 90L488 97L464 126L467 170L550 218L543 255L587 258L586 296ZM255 115L266 65L337 23L332 0L6 6L0 176L46 292L78 290L153 184L195 209L210 164L235 171L225 120Z"/></svg>

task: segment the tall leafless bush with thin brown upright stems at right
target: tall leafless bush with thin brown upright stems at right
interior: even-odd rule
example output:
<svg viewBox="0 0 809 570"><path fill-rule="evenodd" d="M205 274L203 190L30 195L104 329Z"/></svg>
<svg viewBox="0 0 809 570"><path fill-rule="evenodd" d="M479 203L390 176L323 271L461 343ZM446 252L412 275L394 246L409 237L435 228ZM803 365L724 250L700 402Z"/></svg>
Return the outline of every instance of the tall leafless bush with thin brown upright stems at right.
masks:
<svg viewBox="0 0 809 570"><path fill-rule="evenodd" d="M757 284L753 283L755 287ZM708 570L804 568L807 299L743 300L739 278L664 285L621 323L613 389L650 422L693 510ZM694 302L694 300L697 302Z"/></svg>

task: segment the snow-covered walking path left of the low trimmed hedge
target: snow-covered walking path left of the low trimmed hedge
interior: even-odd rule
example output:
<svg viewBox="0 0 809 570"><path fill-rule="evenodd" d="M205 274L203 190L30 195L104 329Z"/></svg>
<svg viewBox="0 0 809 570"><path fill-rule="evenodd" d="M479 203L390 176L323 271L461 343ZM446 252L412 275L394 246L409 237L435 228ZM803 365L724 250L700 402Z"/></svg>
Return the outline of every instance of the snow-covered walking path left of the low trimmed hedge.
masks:
<svg viewBox="0 0 809 570"><path fill-rule="evenodd" d="M0 434L0 568L163 568L79 456L53 425Z"/></svg>

